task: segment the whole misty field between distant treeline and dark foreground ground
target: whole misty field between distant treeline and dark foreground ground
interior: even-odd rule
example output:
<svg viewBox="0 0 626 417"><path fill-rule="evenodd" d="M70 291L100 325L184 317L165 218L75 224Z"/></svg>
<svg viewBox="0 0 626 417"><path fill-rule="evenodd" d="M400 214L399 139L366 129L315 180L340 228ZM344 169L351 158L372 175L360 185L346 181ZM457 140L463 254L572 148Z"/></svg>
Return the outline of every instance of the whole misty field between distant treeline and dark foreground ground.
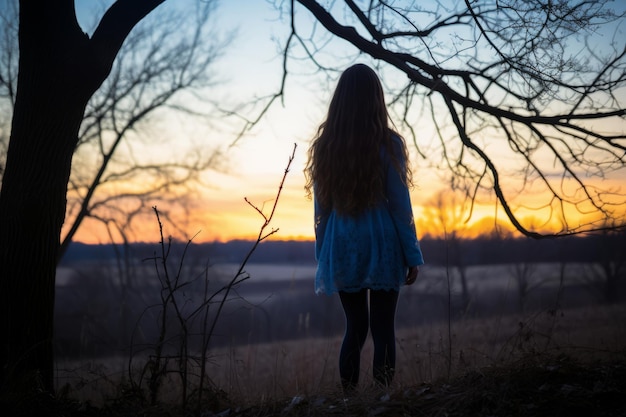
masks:
<svg viewBox="0 0 626 417"><path fill-rule="evenodd" d="M211 266L211 281L224 282L235 267ZM57 288L57 384L94 403L119 395L130 375L139 379L158 336L154 273L142 267L132 282L115 282L105 279L112 273L107 268L67 268ZM187 274L204 282L207 272L199 270ZM339 395L343 315L337 297L314 294L315 267L252 264L246 270L250 278L229 296L207 351L213 392L239 404ZM623 359L626 304L603 302L597 272L588 264L468 267L464 296L457 269L423 267L418 282L401 292L392 389L529 357ZM183 296L190 309L200 291L192 284ZM189 342L194 346L192 337ZM368 340L362 390L372 383L371 355ZM178 381L176 373L167 377L163 401L177 401Z"/></svg>

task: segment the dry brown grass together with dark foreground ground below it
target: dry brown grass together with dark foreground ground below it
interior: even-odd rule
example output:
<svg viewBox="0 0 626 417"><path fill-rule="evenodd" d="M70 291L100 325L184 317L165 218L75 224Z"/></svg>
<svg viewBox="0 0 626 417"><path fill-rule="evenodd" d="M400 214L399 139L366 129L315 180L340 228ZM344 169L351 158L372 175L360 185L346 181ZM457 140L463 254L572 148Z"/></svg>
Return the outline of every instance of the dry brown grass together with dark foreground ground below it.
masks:
<svg viewBox="0 0 626 417"><path fill-rule="evenodd" d="M205 400L182 408L177 380L157 405L130 390L126 362L60 364L57 397L33 394L10 416L626 416L626 306L475 318L399 329L398 369L372 388L371 346L355 396L338 388L340 338L212 352Z"/></svg>

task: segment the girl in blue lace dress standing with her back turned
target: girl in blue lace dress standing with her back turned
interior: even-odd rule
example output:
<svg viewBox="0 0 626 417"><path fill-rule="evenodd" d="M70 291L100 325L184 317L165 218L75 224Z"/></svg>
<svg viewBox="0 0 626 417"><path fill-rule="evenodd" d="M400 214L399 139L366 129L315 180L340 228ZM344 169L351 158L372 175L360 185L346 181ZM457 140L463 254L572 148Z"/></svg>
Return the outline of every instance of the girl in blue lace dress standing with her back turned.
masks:
<svg viewBox="0 0 626 417"><path fill-rule="evenodd" d="M415 282L424 263L407 159L403 139L389 127L375 72L364 64L345 70L309 148L305 175L315 206L315 291L338 292L346 317L339 373L347 392L357 386L368 330L374 380L391 383L398 292Z"/></svg>

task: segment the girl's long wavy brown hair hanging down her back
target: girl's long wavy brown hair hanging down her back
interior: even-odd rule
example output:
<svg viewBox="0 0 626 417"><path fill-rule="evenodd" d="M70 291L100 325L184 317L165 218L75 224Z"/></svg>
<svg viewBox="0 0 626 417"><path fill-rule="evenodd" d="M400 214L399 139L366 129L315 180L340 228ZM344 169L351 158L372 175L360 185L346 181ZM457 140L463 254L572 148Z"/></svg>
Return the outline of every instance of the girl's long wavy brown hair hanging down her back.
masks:
<svg viewBox="0 0 626 417"><path fill-rule="evenodd" d="M380 203L385 195L381 148L387 150L410 186L406 145L389 124L376 73L364 64L346 69L308 151L304 170L307 195L311 197L314 188L315 199L323 208L350 216ZM393 152L392 135L400 138L402 155Z"/></svg>

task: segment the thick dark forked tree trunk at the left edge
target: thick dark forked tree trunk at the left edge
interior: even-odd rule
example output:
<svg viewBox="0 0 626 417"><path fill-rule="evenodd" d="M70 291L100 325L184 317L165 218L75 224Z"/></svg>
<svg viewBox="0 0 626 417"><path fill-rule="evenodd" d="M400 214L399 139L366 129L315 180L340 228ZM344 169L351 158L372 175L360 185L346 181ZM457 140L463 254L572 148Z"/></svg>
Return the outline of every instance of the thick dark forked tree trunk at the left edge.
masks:
<svg viewBox="0 0 626 417"><path fill-rule="evenodd" d="M2 392L53 392L56 263L78 129L122 42L162 1L114 3L92 39L74 0L20 1L18 87L0 191Z"/></svg>

